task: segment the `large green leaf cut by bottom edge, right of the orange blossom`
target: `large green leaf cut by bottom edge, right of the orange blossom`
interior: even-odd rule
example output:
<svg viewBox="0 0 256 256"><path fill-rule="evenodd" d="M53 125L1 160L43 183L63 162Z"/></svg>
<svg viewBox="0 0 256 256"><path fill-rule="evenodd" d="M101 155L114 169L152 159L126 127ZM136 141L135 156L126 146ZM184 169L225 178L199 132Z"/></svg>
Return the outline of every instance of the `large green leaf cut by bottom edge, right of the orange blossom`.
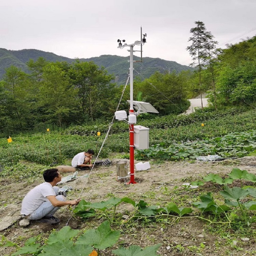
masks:
<svg viewBox="0 0 256 256"><path fill-rule="evenodd" d="M148 246L144 250L138 245L131 245L128 248L120 247L113 250L112 253L118 256L157 256L159 255L156 251L161 244Z"/></svg>

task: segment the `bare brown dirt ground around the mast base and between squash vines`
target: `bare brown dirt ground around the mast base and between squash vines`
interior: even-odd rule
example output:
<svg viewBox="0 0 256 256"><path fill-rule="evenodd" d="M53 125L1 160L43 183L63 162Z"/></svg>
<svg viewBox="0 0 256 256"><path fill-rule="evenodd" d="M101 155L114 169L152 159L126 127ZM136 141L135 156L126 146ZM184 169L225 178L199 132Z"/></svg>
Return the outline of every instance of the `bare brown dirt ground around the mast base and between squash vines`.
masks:
<svg viewBox="0 0 256 256"><path fill-rule="evenodd" d="M196 181L208 173L218 173L224 175L229 173L232 168L238 167L256 174L256 157L244 157L241 159L224 160L216 162L189 163L180 162L161 162L151 161L151 169L136 172L137 184L124 185L116 180L116 164L120 159L112 159L112 165L99 166L94 168L89 179L79 178L70 181L64 185L73 187L68 193L68 199L83 198L90 202L99 202L107 200L111 196L130 197L137 201L143 199L146 202L165 203L171 201L172 188L181 186L184 182ZM124 159L122 159L124 160ZM89 173L89 171L80 171L79 176ZM70 173L63 173L66 176ZM1 207L0 218L6 216L15 216L19 213L23 197L34 186L40 184L42 179L38 179L32 184L26 182L14 183L11 179L1 181ZM163 188L167 187L170 193L163 196ZM190 198L186 199L187 207L191 207ZM9 205L9 206L8 206ZM10 207L11 205L11 207ZM129 214L131 207L127 204L120 205L118 212ZM81 222L71 216L67 207L62 207L55 215L61 219L59 224L50 225L45 223L30 222L27 227L20 227L17 221L12 226L4 229L1 233L10 241L19 245L24 244L26 239L36 236L40 233L49 232L55 228L59 230L68 225L75 229L96 228L102 222L97 219L94 222ZM184 218L179 223L166 224L151 222L136 227L136 223L131 227L123 227L120 241L124 241L122 246L127 247L131 244L137 244L141 247L161 243L159 254L162 256L179 255L256 255L255 234L250 240L242 241L240 238L221 237L212 235L212 228L206 222L197 218ZM234 242L233 242L234 241ZM193 247L194 246L194 247ZM241 248L241 250L239 249ZM14 252L14 247L0 247L0 255L10 255ZM111 250L106 250L102 255L110 256Z"/></svg>

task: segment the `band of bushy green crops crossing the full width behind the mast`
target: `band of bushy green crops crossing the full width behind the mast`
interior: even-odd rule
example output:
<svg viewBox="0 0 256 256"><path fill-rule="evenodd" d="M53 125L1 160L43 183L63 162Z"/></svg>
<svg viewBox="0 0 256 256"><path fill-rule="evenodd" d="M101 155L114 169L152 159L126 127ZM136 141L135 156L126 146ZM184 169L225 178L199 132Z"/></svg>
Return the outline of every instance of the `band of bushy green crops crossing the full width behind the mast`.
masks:
<svg viewBox="0 0 256 256"><path fill-rule="evenodd" d="M255 128L255 119L255 111L250 110L242 114L216 117L215 120L204 122L204 126L201 126L201 122L197 122L178 128L155 128L150 130L150 145L157 145L162 142L165 147L168 147L179 141L197 141L204 138L225 136L229 132L243 132ZM108 157L110 152L129 151L128 125L125 124L125 126L126 132L111 134L108 137L101 152L101 158ZM70 159L88 148L93 148L97 154L103 139L104 134L102 136L79 136L58 132L19 135L14 137L11 143L8 143L6 139L0 139L0 165L13 166L19 160L43 165L49 165L53 161L62 164L65 163L66 159ZM177 148L180 149L180 146ZM207 151L200 151L200 154L202 153L207 154Z"/></svg>

